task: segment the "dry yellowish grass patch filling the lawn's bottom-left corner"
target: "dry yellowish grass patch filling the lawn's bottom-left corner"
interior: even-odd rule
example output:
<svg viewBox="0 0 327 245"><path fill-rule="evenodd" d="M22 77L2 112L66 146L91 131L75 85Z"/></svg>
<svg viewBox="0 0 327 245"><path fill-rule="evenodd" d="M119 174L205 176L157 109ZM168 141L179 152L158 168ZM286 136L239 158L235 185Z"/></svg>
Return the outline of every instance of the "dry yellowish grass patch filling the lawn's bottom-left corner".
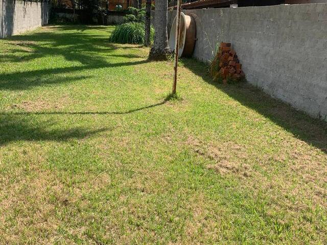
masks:
<svg viewBox="0 0 327 245"><path fill-rule="evenodd" d="M13 177L17 179L12 181ZM40 169L38 164L32 164L28 173L21 168L16 169L14 176L0 177L0 243L15 244L21 236L36 238L36 233L56 238L58 226L69 218L65 210L87 209L90 201L83 196L100 191L109 183L110 178L105 172L87 172L71 178ZM78 231L72 229L72 232ZM44 237L34 242L53 244Z"/></svg>

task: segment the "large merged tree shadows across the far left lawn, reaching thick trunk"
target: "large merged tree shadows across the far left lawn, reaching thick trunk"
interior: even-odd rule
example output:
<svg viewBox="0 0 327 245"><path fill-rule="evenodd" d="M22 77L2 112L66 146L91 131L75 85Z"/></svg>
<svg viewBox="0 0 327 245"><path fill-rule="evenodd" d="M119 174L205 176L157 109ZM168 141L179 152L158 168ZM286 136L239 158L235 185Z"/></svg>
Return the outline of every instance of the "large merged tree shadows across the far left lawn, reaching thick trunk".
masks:
<svg viewBox="0 0 327 245"><path fill-rule="evenodd" d="M53 31L6 38L5 43L12 46L12 48L0 53L0 65L2 62L21 63L44 57L49 57L51 63L53 57L57 56L63 57L66 61L78 62L80 65L58 68L48 66L39 69L33 68L25 71L2 73L0 74L0 90L25 90L35 86L68 83L88 78L86 76L76 76L78 71L133 66L148 62L146 59L117 62L119 58L142 57L132 54L112 54L114 50L121 47L108 42L107 27L55 26L47 28L53 29ZM87 29L97 29L104 32L100 32L100 35L89 35L84 32ZM72 30L76 32L71 32ZM76 72L76 74L73 72Z"/></svg>

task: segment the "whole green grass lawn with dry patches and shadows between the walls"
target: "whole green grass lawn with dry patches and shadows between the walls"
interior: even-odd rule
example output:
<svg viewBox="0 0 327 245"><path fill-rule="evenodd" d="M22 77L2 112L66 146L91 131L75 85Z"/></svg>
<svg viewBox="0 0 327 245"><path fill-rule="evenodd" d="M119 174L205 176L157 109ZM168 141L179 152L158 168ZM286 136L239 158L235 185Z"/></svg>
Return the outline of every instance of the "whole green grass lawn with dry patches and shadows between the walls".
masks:
<svg viewBox="0 0 327 245"><path fill-rule="evenodd" d="M326 244L327 126L112 27L0 40L0 244Z"/></svg>

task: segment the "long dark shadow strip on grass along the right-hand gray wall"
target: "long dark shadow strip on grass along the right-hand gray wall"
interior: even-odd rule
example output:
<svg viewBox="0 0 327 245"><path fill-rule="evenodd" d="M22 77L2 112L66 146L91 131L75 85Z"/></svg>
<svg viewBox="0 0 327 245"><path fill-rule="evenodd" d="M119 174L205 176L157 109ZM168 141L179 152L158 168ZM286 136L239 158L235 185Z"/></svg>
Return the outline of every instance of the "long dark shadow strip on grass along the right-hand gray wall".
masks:
<svg viewBox="0 0 327 245"><path fill-rule="evenodd" d="M327 153L326 122L314 119L280 100L273 99L249 83L223 85L214 82L209 76L206 66L195 59L183 59L182 62L186 68L203 78L208 84L228 94L242 105L264 115L275 124L291 132L295 137Z"/></svg>

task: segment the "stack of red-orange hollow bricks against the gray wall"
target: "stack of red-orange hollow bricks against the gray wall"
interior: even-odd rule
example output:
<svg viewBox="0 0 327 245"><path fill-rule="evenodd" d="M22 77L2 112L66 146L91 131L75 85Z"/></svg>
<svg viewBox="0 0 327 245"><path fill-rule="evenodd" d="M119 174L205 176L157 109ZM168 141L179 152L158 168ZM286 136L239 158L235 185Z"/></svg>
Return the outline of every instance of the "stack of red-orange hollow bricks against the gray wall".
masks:
<svg viewBox="0 0 327 245"><path fill-rule="evenodd" d="M217 61L219 61L217 77L221 77L224 84L227 83L227 79L240 81L245 78L242 65L230 43L222 42L220 44L217 58Z"/></svg>

